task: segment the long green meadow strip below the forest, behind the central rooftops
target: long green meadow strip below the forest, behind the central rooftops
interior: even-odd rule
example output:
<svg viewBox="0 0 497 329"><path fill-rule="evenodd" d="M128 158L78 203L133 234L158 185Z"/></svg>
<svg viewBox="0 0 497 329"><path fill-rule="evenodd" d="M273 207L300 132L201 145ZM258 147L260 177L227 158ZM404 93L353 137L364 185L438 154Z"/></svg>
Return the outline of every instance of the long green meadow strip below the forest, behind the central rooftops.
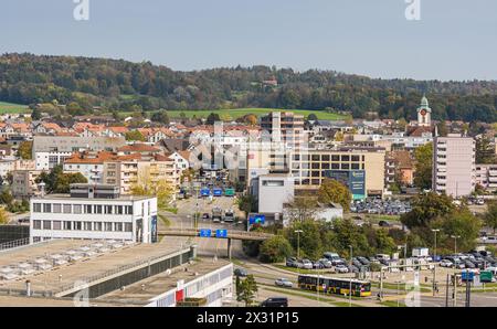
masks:
<svg viewBox="0 0 497 329"><path fill-rule="evenodd" d="M334 114L334 113L325 113L324 110L308 110L308 109L269 109L269 108L237 108L237 109L204 109L204 110L198 110L198 109L187 109L187 110L168 110L168 115L170 118L180 118L181 113L183 113L188 118L192 118L193 116L197 116L197 118L207 118L211 113L219 114L221 119L223 120L235 120L240 117L243 117L247 114L256 115L257 117L261 117L263 115L268 114L269 112L294 112L296 114L304 115L307 117L310 114L315 114L318 119L321 120L341 120L346 119L347 116ZM131 113L129 112L121 112L119 113L120 116L129 116Z"/></svg>

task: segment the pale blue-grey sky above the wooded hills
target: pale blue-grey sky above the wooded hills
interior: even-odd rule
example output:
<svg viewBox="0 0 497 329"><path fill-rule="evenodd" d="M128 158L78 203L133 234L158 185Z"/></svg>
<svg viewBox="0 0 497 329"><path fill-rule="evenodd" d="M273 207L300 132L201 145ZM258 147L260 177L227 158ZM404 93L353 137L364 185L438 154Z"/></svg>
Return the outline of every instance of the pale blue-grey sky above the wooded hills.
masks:
<svg viewBox="0 0 497 329"><path fill-rule="evenodd" d="M74 19L75 1L88 1L88 20ZM406 1L420 1L420 20ZM1 0L0 52L497 79L497 1Z"/></svg>

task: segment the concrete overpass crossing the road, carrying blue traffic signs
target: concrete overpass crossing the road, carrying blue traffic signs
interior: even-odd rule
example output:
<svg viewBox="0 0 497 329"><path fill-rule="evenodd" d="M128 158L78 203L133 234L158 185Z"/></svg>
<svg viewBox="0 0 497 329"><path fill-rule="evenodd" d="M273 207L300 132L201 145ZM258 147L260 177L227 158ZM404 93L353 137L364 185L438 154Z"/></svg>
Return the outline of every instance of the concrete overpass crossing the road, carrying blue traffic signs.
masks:
<svg viewBox="0 0 497 329"><path fill-rule="evenodd" d="M205 237L205 238L216 238L215 236L215 230L213 231L213 236L205 237L200 236L200 230L199 229L166 229L160 230L158 232L159 236L188 236L188 237ZM266 241L267 238L271 238L274 236L274 234L268 233L261 233L261 232L245 232L245 231L232 231L226 230L228 236L226 237L219 237L219 238L226 238L228 240L228 258L231 259L231 242L232 240L241 240L241 241Z"/></svg>

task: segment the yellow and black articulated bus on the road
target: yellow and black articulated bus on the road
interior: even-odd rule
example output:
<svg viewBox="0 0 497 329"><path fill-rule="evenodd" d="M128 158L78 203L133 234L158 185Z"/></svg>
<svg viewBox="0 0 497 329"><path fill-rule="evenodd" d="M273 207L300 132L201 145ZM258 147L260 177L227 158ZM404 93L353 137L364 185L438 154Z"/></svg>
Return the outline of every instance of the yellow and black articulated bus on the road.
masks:
<svg viewBox="0 0 497 329"><path fill-rule="evenodd" d="M318 284L319 280L319 284ZM371 296L371 283L366 280L352 279L352 296L369 297ZM299 275L298 287L305 290L319 289L319 293L350 295L349 278L334 278L317 275Z"/></svg>

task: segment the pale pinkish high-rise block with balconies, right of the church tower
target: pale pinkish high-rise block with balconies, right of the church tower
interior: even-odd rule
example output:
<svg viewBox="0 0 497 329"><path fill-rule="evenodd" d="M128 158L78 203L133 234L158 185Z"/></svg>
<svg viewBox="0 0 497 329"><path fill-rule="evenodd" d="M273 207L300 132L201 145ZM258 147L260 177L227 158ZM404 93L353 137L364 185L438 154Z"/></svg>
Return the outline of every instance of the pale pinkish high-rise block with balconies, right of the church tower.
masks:
<svg viewBox="0 0 497 329"><path fill-rule="evenodd" d="M475 140L450 134L435 137L433 148L433 190L454 198L475 190Z"/></svg>

